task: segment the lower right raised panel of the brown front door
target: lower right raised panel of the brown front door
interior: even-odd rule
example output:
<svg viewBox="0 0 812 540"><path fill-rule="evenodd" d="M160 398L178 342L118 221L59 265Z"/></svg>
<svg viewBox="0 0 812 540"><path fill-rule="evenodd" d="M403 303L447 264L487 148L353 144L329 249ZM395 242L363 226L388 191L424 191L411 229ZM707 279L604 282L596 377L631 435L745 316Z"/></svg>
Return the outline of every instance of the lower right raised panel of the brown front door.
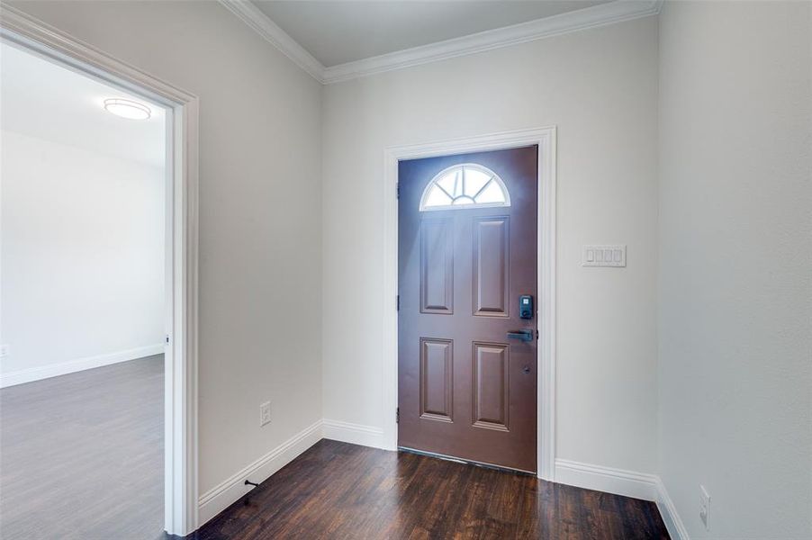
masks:
<svg viewBox="0 0 812 540"><path fill-rule="evenodd" d="M510 349L498 343L474 343L474 426L508 430Z"/></svg>

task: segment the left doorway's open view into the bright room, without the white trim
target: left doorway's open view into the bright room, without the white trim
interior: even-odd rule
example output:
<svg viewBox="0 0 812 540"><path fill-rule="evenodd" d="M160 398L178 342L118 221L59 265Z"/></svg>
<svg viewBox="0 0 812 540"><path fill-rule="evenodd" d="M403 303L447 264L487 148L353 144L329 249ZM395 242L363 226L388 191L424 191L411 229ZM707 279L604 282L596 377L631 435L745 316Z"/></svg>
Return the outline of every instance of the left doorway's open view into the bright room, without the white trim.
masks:
<svg viewBox="0 0 812 540"><path fill-rule="evenodd" d="M157 538L167 111L8 43L0 58L4 534Z"/></svg>

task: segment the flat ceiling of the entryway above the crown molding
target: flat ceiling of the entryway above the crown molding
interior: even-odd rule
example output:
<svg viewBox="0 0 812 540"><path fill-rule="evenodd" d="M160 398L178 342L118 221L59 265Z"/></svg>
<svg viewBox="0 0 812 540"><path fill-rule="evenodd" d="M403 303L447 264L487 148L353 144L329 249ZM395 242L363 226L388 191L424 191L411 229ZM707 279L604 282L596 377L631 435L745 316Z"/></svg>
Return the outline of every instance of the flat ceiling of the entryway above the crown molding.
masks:
<svg viewBox="0 0 812 540"><path fill-rule="evenodd" d="M526 23L609 0L253 0L325 67Z"/></svg>

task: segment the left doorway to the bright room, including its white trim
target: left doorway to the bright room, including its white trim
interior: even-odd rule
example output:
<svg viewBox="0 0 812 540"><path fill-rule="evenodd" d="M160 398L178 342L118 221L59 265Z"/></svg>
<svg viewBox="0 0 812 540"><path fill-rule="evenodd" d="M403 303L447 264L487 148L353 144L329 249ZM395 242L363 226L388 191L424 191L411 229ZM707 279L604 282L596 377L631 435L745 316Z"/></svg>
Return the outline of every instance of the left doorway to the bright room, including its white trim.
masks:
<svg viewBox="0 0 812 540"><path fill-rule="evenodd" d="M0 343L6 346L0 392L9 403L22 403L4 406L4 416L11 416L0 422L4 446L14 446L0 463L0 480L13 486L0 500L4 534L10 533L8 516L20 524L22 513L31 523L61 517L62 527L95 537L107 530L105 519L122 510L114 495L138 499L149 491L155 522L133 524L133 534L151 535L138 528L144 526L157 527L158 535L186 535L197 525L197 98L11 7L0 12L0 37L2 233L15 235L4 238L0 277L20 281L23 275L31 289L23 294L14 285L10 293L4 283L0 298ZM23 98L41 100L20 114ZM65 100L74 102L70 111ZM93 120L83 116L91 111ZM128 131L105 134L104 122L123 122L118 126ZM147 125L152 130L144 133ZM13 181L16 176L27 182ZM12 203L14 211L7 210ZM27 227L34 220L40 229ZM57 284L68 284L61 296ZM37 318L43 313L50 320ZM26 323L6 329L12 320ZM36 335L21 333L22 327L31 333L32 322L40 325ZM77 352L89 350L87 343L96 350ZM37 392L21 398L25 387L40 390L44 401L35 399ZM59 394L65 397L54 400ZM41 410L26 407L33 403ZM31 422L12 421L26 415ZM93 429L100 425L98 434ZM46 432L42 440L51 447L26 452L26 442L38 441L29 441L36 437L26 437L25 429ZM67 437L59 445L53 444L57 434L60 441ZM128 437L133 445L124 444ZM61 462L54 474L41 470L38 482L9 473L20 464L43 465L43 453L50 463ZM71 482L88 463L96 467ZM116 472L135 475L116 482ZM38 512L55 486L63 499ZM71 493L72 486L81 493ZM12 500L21 496L23 508ZM121 522L115 530L122 532Z"/></svg>

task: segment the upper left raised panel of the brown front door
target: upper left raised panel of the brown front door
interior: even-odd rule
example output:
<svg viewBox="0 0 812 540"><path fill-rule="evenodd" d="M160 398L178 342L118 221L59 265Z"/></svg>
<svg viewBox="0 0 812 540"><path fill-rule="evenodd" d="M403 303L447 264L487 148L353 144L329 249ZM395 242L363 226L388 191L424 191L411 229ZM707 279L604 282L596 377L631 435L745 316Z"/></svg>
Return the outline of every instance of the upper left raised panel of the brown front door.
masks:
<svg viewBox="0 0 812 540"><path fill-rule="evenodd" d="M420 221L420 312L454 313L453 220Z"/></svg>

